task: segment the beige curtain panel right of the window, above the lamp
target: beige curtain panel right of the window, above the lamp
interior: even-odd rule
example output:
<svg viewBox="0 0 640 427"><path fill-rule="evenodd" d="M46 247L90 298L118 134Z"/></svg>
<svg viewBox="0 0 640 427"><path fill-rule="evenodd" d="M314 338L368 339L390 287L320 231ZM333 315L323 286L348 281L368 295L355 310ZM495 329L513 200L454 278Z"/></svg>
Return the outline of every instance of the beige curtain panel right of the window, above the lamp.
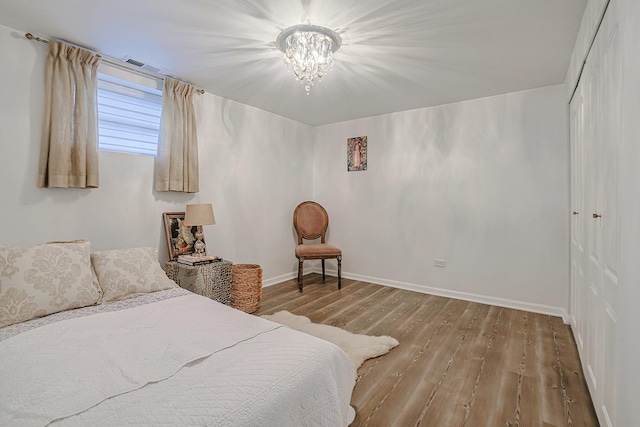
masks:
<svg viewBox="0 0 640 427"><path fill-rule="evenodd" d="M156 190L197 193L198 138L193 108L195 88L165 78L156 156Z"/></svg>

